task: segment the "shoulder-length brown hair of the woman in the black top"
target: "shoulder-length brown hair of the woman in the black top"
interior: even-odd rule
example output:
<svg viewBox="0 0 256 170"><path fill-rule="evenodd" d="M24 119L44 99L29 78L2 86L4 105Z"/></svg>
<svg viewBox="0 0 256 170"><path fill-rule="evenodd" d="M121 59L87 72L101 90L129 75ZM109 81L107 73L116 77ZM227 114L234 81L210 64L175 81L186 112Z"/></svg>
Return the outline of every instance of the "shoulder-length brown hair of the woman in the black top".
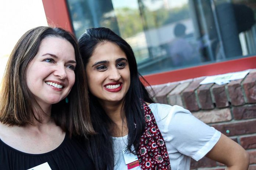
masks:
<svg viewBox="0 0 256 170"><path fill-rule="evenodd" d="M24 126L36 121L41 122L39 113L44 113L36 102L26 83L26 69L29 62L39 51L46 37L64 38L74 47L75 83L65 99L53 104L51 118L70 135L93 134L90 121L88 92L85 69L79 53L76 38L59 27L39 26L26 32L17 42L8 59L0 91L0 122L7 125Z"/></svg>

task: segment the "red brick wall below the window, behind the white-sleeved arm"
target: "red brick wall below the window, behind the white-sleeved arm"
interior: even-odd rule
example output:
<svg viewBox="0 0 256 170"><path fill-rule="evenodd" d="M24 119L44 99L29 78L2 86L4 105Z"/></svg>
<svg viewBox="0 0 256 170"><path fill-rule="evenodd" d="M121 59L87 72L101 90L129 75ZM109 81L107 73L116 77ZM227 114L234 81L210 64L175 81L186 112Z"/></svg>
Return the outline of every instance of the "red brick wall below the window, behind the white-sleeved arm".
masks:
<svg viewBox="0 0 256 170"><path fill-rule="evenodd" d="M199 83L205 77L152 86L155 101L179 105L201 121L240 144L250 155L249 170L256 170L256 70L242 80L217 85ZM191 169L224 170L225 166L208 158L196 162Z"/></svg>

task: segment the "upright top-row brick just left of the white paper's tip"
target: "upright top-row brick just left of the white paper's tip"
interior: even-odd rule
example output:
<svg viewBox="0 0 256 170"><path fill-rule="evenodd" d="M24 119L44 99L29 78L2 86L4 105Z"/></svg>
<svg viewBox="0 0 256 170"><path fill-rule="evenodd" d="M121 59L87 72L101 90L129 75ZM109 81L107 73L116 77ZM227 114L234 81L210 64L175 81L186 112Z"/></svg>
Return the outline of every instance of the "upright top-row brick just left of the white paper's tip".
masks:
<svg viewBox="0 0 256 170"><path fill-rule="evenodd" d="M203 78L194 80L188 87L183 91L182 98L184 99L185 106L190 111L198 111L199 106L196 100L195 90L200 86L200 82Z"/></svg>

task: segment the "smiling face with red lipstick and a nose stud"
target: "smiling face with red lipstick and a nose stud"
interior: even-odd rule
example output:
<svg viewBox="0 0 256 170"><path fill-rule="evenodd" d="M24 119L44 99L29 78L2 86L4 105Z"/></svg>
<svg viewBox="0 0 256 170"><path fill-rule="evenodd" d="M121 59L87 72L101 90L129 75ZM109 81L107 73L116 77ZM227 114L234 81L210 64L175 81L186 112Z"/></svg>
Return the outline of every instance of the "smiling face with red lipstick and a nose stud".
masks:
<svg viewBox="0 0 256 170"><path fill-rule="evenodd" d="M118 45L98 44L86 66L90 92L101 102L122 101L130 86L127 56Z"/></svg>

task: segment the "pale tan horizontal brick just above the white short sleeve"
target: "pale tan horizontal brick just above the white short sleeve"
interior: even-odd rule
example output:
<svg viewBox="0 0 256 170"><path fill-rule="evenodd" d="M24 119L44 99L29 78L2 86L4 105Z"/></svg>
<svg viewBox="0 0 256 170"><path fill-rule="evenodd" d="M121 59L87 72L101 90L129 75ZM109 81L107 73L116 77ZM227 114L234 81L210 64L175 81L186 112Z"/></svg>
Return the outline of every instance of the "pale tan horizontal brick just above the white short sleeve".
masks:
<svg viewBox="0 0 256 170"><path fill-rule="evenodd" d="M205 123L230 121L232 119L229 108L214 109L210 111L198 111L192 113L196 118Z"/></svg>

